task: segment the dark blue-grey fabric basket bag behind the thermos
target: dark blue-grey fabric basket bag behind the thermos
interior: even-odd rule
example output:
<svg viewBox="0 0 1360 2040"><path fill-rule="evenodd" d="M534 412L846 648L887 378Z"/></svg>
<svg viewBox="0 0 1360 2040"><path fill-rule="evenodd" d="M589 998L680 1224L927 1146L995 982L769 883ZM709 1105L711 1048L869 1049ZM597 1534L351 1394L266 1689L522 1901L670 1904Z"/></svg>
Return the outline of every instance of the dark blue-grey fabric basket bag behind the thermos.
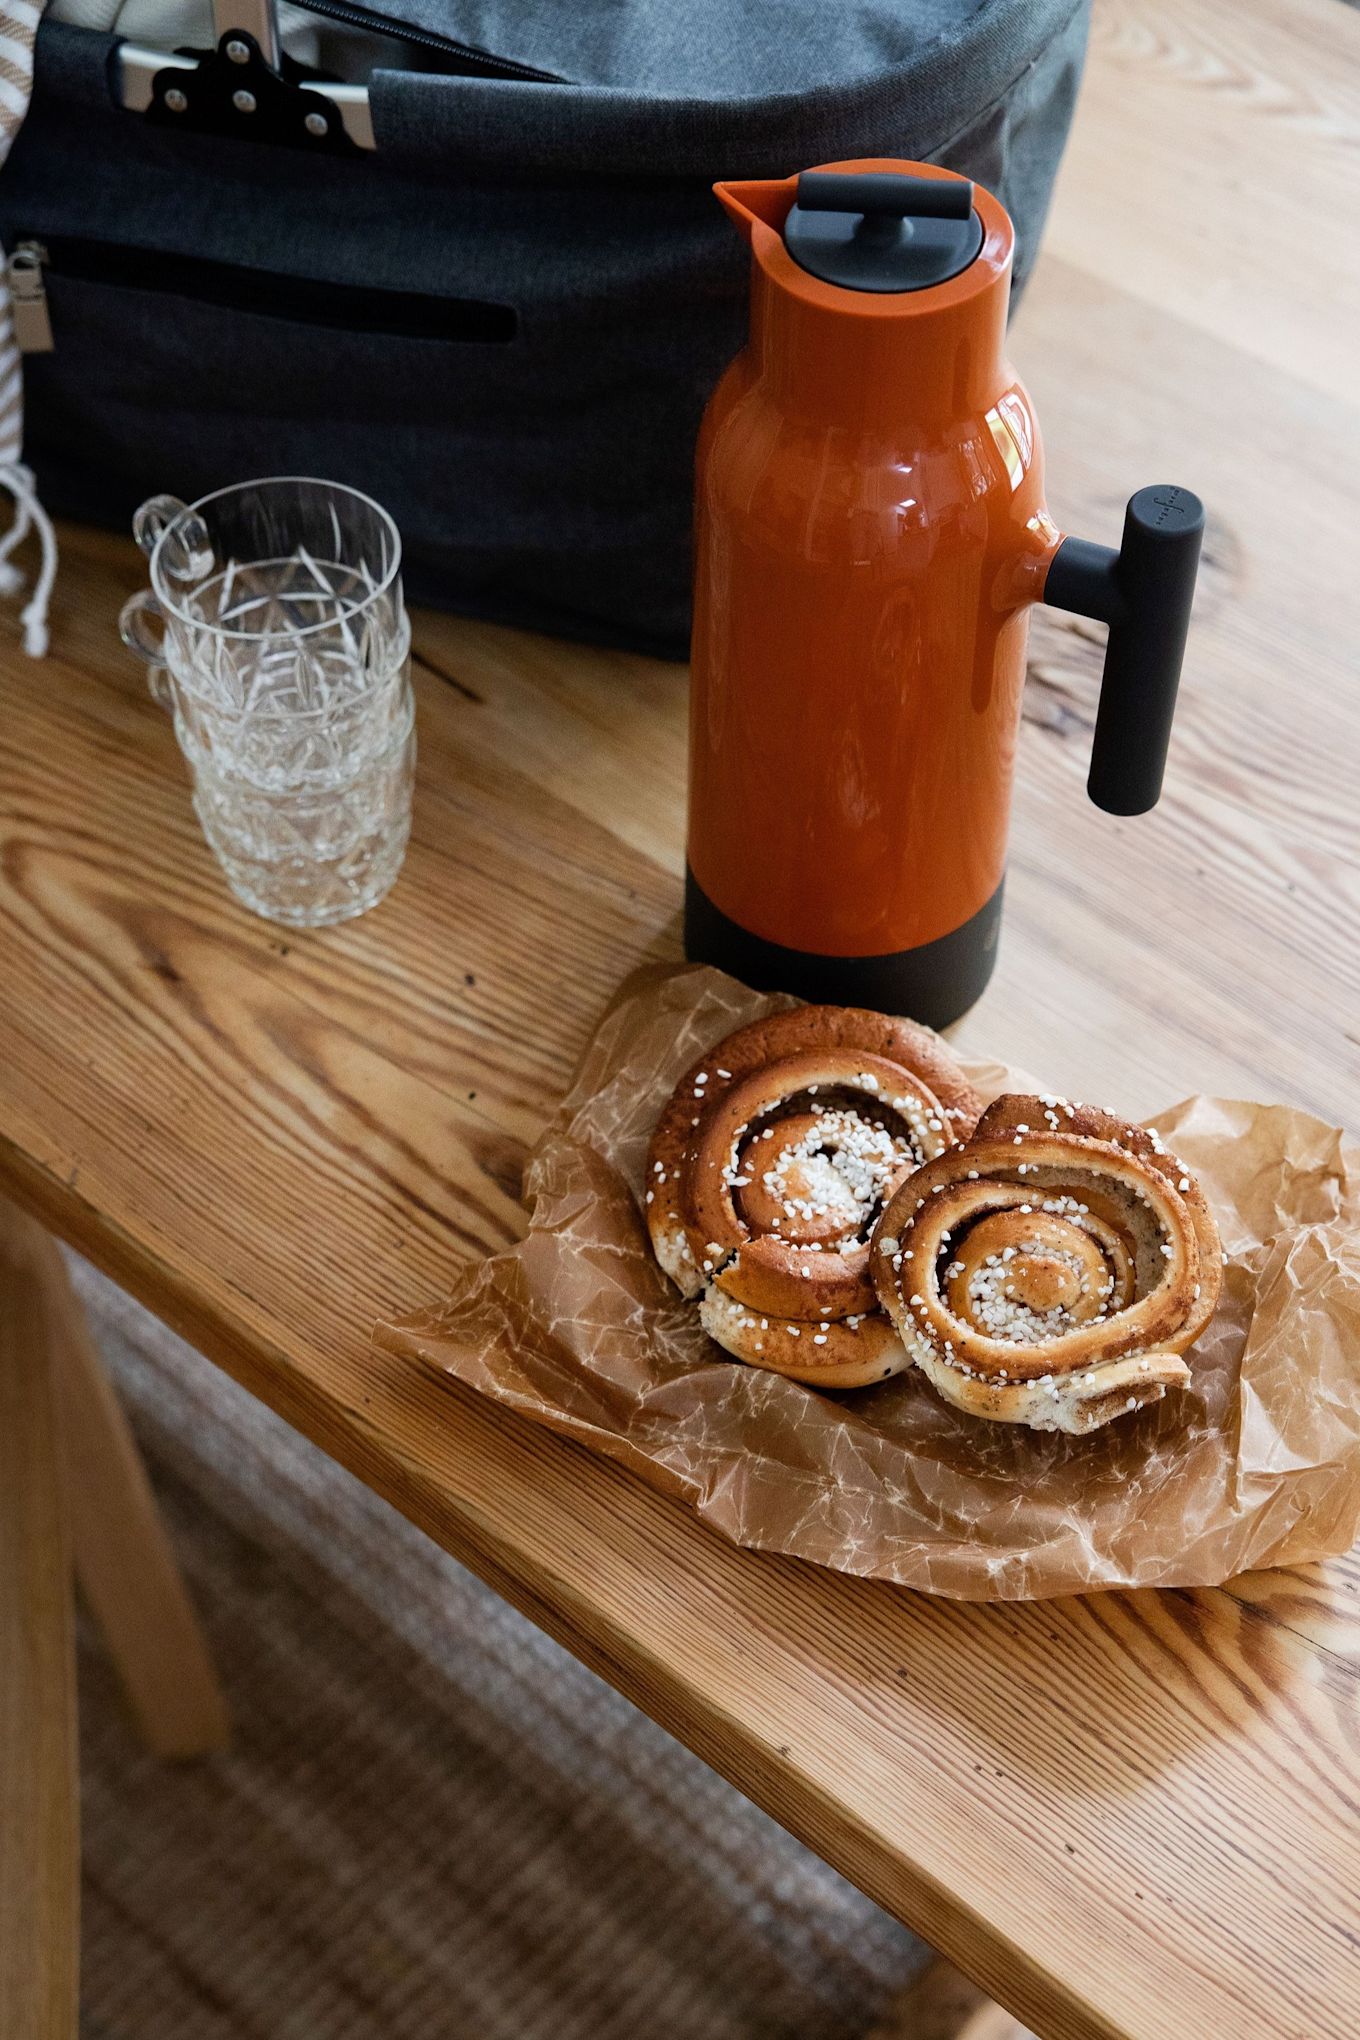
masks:
<svg viewBox="0 0 1360 2040"><path fill-rule="evenodd" d="M212 51L202 6L192 47ZM126 37L43 20L0 171L0 243L51 326L24 361L43 500L126 528L161 490L328 475L391 510L416 598L681 657L693 441L746 316L714 180L942 161L1001 196L1024 275L1087 0L314 16L389 39L371 149L230 112L186 129L163 78L133 112Z"/></svg>

